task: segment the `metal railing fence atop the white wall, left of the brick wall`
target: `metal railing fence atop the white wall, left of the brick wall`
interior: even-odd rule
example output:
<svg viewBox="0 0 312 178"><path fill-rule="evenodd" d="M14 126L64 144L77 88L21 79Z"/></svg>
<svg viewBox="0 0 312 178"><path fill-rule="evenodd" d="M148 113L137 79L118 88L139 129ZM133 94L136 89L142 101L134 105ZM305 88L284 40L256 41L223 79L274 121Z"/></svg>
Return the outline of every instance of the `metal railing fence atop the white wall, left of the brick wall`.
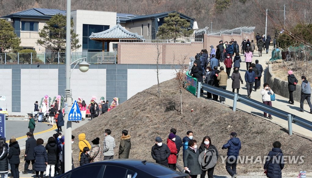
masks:
<svg viewBox="0 0 312 178"><path fill-rule="evenodd" d="M116 64L117 51L72 52L71 62L86 57L89 64ZM66 53L0 53L0 64L65 64Z"/></svg>

